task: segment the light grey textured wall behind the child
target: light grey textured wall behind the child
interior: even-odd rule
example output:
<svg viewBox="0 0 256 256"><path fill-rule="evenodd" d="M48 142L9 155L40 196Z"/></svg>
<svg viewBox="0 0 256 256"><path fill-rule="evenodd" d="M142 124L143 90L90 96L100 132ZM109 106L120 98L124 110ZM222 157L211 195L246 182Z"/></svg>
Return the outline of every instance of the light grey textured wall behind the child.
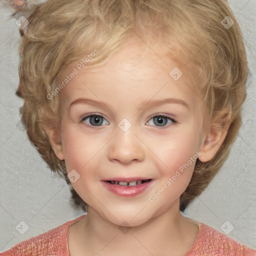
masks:
<svg viewBox="0 0 256 256"><path fill-rule="evenodd" d="M252 73L243 124L227 161L185 215L220 232L233 226L228 235L256 249L256 0L229 0L229 4L240 24ZM9 19L11 10L0 5L0 251L4 251L83 212L71 207L65 181L53 177L25 131L18 128L22 99L14 93L20 36L15 18ZM29 227L24 234L16 229L20 221ZM225 221L229 222L223 231Z"/></svg>

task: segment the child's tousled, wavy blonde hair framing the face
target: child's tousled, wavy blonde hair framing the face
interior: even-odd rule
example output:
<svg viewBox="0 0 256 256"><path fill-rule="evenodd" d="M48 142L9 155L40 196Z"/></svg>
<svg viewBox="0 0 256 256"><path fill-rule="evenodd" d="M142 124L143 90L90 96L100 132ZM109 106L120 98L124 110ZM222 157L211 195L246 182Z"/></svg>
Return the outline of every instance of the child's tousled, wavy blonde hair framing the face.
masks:
<svg viewBox="0 0 256 256"><path fill-rule="evenodd" d="M24 99L21 120L32 144L48 167L65 178L64 160L56 157L46 128L59 127L60 71L81 56L99 54L94 65L111 56L133 31L148 45L163 46L185 65L199 67L209 120L228 109L230 126L215 156L196 160L190 183L180 196L180 210L199 195L228 156L241 123L247 78L246 53L237 21L225 0L46 0L30 6L20 30L19 86ZM228 16L228 17L226 17ZM224 21L223 21L224 20ZM225 24L233 24L230 27ZM230 23L231 22L231 23ZM175 54L173 54L175 52ZM70 185L74 206L86 203Z"/></svg>

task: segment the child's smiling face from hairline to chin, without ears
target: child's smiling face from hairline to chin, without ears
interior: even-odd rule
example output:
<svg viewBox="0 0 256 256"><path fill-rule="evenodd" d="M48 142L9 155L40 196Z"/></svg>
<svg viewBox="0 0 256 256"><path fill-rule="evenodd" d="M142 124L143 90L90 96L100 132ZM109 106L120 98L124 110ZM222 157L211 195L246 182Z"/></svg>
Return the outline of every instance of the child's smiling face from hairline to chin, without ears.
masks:
<svg viewBox="0 0 256 256"><path fill-rule="evenodd" d="M115 224L138 225L172 206L178 211L191 178L202 145L202 101L193 70L182 69L176 81L169 75L176 65L152 50L141 58L138 44L126 44L103 65L85 66L59 92L58 157L67 172L75 170L75 179L79 173L72 185L89 211ZM74 66L64 70L63 79ZM85 115L99 116L80 122ZM106 181L141 179L152 180L129 187Z"/></svg>

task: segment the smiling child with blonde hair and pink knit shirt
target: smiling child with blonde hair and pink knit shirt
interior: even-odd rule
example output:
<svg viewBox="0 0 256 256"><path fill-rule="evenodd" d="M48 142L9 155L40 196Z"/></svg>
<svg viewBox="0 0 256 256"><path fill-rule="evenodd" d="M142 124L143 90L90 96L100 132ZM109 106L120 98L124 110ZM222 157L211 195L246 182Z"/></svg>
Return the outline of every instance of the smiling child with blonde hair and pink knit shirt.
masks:
<svg viewBox="0 0 256 256"><path fill-rule="evenodd" d="M241 122L247 62L227 3L47 0L23 13L22 122L87 214L1 255L256 255L180 213Z"/></svg>

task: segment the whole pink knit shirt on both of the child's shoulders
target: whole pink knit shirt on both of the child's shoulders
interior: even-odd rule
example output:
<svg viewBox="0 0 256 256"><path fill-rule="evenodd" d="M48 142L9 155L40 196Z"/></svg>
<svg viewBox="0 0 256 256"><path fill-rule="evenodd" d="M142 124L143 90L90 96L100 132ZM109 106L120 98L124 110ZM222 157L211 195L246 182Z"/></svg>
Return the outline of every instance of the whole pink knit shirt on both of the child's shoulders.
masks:
<svg viewBox="0 0 256 256"><path fill-rule="evenodd" d="M0 253L1 256L70 256L67 248L67 234L72 223L79 216L45 233L21 241ZM216 229L197 222L199 230L190 249L184 256L256 256L253 250L220 233Z"/></svg>

